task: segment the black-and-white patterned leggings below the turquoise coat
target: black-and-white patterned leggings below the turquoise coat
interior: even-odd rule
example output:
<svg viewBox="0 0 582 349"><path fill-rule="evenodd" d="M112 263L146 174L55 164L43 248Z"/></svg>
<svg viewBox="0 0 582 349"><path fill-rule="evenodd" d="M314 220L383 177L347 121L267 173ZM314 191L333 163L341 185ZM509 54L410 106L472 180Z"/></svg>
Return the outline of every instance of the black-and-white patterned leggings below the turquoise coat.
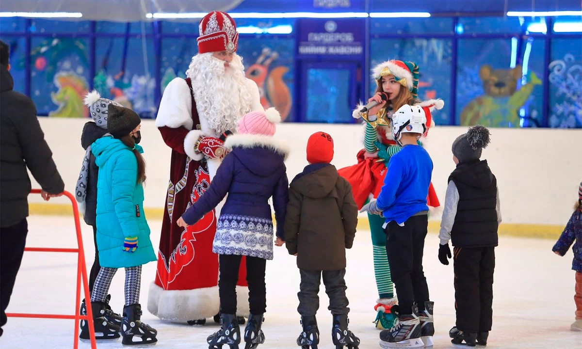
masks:
<svg viewBox="0 0 582 349"><path fill-rule="evenodd" d="M117 272L117 268L101 267L91 293L91 302L105 302L111 280ZM141 265L125 268L125 305L137 304L140 302L141 287Z"/></svg>

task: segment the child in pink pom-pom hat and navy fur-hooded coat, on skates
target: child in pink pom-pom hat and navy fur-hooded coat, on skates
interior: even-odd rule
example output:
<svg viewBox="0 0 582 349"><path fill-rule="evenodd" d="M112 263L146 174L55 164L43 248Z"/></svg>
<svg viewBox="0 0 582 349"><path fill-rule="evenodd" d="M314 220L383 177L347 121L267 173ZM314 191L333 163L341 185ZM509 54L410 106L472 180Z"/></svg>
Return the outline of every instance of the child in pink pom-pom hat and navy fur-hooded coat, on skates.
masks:
<svg viewBox="0 0 582 349"><path fill-rule="evenodd" d="M244 115L239 122L239 133L226 138L225 147L232 151L223 159L210 188L178 220L180 226L193 225L228 194L212 245L220 263L222 327L208 337L210 346L241 341L235 289L242 256L246 256L251 312L244 341L249 347L265 341L261 330L267 307L265 265L268 259L273 259L274 238L269 198L273 198L275 208L278 246L285 239L283 223L289 201L284 163L289 148L273 137L279 122L281 116L275 108Z"/></svg>

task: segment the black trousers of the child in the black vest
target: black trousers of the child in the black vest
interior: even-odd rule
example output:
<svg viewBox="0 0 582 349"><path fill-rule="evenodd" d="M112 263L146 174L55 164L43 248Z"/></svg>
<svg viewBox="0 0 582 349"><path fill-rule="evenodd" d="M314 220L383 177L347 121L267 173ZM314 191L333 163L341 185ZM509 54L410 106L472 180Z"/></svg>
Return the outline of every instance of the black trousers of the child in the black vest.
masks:
<svg viewBox="0 0 582 349"><path fill-rule="evenodd" d="M457 329L469 333L490 331L495 247L455 247L453 252Z"/></svg>

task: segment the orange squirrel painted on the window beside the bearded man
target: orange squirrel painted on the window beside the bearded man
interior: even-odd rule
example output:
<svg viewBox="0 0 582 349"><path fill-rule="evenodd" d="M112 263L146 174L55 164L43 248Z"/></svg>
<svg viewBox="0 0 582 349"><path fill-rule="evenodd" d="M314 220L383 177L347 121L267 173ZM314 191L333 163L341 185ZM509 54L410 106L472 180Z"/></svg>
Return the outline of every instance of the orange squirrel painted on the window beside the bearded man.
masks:
<svg viewBox="0 0 582 349"><path fill-rule="evenodd" d="M269 65L277 58L279 58L277 52L265 47L262 49L261 55L258 56L257 62L246 70L246 77L257 84L263 108L274 106L281 113L281 120L285 120L291 110L291 94L289 87L283 81L283 76L289 71L289 68L278 66L269 73ZM267 82L266 94L265 81Z"/></svg>

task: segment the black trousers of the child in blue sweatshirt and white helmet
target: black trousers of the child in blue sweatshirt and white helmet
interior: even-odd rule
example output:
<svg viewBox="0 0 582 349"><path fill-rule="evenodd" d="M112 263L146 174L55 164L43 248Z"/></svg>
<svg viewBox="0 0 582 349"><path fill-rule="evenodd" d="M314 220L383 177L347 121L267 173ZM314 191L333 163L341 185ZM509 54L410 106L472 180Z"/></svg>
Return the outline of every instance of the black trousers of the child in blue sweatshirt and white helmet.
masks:
<svg viewBox="0 0 582 349"><path fill-rule="evenodd" d="M401 227L392 221L386 226L386 253L396 286L401 315L412 314L416 302L424 310L428 301L427 278L423 272L424 238L427 236L428 215L412 216Z"/></svg>

